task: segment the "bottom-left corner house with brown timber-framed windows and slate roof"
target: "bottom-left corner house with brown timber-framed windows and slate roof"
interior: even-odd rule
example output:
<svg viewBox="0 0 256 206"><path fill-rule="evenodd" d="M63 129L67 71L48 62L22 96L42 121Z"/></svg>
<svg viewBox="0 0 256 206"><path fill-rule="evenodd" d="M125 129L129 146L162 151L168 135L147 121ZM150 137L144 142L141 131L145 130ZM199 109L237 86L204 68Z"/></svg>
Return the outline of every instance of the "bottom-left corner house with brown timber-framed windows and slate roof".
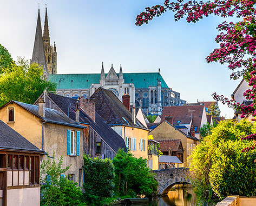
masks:
<svg viewBox="0 0 256 206"><path fill-rule="evenodd" d="M40 205L43 154L0 120L0 205Z"/></svg>

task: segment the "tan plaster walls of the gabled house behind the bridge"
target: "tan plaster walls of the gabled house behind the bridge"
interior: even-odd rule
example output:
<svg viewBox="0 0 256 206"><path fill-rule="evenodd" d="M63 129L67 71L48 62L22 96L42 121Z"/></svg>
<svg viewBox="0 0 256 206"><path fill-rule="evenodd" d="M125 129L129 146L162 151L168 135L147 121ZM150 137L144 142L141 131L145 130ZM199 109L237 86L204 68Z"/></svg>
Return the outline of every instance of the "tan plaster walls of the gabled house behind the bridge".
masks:
<svg viewBox="0 0 256 206"><path fill-rule="evenodd" d="M195 146L199 144L198 138L191 135L186 135L183 131L175 128L174 125L167 121L160 123L157 127L149 132L149 135L153 135L156 141L163 139L181 139L184 152L183 165L180 164L180 167L189 167L188 156L191 155Z"/></svg>

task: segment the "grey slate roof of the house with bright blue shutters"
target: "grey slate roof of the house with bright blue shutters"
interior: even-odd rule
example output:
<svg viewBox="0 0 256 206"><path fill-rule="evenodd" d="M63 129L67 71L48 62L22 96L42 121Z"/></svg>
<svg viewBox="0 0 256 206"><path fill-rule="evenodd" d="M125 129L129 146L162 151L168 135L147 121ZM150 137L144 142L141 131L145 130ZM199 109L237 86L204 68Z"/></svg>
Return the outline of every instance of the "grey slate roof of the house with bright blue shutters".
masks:
<svg viewBox="0 0 256 206"><path fill-rule="evenodd" d="M61 112L58 112L54 109L45 108L45 117L41 117L38 115L38 106L33 104L26 104L22 102L12 101L22 108L28 110L32 114L36 115L37 117L41 118L45 122L49 123L55 123L55 124L62 124L62 125L69 125L71 127L78 127L83 128L83 126L77 122L75 122L73 119L68 118L67 116L61 114Z"/></svg>

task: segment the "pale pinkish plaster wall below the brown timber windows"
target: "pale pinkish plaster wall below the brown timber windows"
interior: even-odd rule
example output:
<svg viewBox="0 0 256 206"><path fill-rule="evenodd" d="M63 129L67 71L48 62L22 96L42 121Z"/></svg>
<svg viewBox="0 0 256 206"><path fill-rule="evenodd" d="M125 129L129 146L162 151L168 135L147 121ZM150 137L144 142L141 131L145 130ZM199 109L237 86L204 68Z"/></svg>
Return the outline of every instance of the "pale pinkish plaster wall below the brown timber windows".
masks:
<svg viewBox="0 0 256 206"><path fill-rule="evenodd" d="M15 198L14 198L15 197ZM40 187L7 190L8 206L39 206Z"/></svg>

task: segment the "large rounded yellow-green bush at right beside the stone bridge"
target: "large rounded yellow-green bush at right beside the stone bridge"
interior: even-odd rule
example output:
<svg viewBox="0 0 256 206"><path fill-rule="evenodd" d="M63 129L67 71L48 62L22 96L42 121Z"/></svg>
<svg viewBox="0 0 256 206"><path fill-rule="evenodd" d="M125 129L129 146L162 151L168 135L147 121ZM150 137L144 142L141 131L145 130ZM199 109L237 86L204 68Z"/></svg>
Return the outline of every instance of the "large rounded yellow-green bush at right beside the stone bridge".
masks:
<svg viewBox="0 0 256 206"><path fill-rule="evenodd" d="M199 196L206 190L220 198L256 195L256 151L242 152L251 143L240 141L241 136L255 131L255 123L221 121L202 139L190 157L192 181Z"/></svg>

